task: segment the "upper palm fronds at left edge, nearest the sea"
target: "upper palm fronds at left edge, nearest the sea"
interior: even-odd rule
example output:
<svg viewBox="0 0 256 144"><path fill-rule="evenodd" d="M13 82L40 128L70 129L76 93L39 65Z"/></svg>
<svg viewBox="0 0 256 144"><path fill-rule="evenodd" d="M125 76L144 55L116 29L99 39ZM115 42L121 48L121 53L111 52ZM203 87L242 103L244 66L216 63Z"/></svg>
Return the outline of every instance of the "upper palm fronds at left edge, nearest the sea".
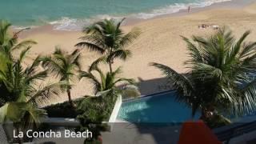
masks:
<svg viewBox="0 0 256 144"><path fill-rule="evenodd" d="M27 46L34 45L36 42L27 40L18 43L18 34L22 32L19 30L13 35L9 34L11 24L9 22L0 20L0 51L6 54L8 58L12 58L14 50L20 50Z"/></svg>

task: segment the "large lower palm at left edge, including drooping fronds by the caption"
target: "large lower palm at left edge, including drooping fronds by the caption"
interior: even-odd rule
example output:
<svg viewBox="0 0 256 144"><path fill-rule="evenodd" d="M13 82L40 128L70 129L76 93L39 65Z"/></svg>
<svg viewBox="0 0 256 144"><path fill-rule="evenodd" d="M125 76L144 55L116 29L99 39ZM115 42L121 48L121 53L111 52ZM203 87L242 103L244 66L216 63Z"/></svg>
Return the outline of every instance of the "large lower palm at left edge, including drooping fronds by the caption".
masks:
<svg viewBox="0 0 256 144"><path fill-rule="evenodd" d="M46 114L38 109L38 104L57 95L60 86L58 83L42 85L47 73L46 70L39 70L40 56L30 66L22 66L28 50L30 47L22 50L17 60L6 62L6 69L0 70L0 122L12 121L18 131L38 125L39 118Z"/></svg>

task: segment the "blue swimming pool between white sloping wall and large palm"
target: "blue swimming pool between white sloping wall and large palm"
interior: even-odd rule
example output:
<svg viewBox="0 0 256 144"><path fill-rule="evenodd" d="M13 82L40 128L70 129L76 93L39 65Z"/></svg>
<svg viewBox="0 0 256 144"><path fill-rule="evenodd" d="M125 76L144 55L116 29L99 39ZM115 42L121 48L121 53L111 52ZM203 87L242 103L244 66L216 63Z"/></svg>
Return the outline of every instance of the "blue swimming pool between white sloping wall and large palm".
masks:
<svg viewBox="0 0 256 144"><path fill-rule="evenodd" d="M118 119L127 122L180 123L191 118L190 107L175 101L174 91L122 102L118 112Z"/></svg>

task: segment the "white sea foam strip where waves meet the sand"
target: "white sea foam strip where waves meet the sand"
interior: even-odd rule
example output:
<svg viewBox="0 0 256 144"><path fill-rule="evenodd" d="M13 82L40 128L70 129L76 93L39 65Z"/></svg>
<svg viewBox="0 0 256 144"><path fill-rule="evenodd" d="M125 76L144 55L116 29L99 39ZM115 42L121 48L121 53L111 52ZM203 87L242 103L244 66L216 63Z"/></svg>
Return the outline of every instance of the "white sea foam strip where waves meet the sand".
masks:
<svg viewBox="0 0 256 144"><path fill-rule="evenodd" d="M69 31L75 30L76 31L76 30L82 30L84 26L89 26L91 23L97 22L98 20L102 20L102 19L113 18L116 20L120 20L124 17L149 19L149 18L160 16L160 15L177 13L180 10L186 10L188 6L190 6L191 8L198 8L198 7L210 6L218 2L227 2L227 1L231 1L231 0L206 0L204 2L201 1L201 2L190 2L190 3L174 3L169 6L162 6L154 10L149 10L149 11L141 12L137 14L126 14L126 15L98 14L93 18L62 17L57 21L48 22L48 23L50 25L53 25L54 30L69 30ZM30 27L34 27L34 26L30 26ZM21 27L15 26L15 28L21 28Z"/></svg>

